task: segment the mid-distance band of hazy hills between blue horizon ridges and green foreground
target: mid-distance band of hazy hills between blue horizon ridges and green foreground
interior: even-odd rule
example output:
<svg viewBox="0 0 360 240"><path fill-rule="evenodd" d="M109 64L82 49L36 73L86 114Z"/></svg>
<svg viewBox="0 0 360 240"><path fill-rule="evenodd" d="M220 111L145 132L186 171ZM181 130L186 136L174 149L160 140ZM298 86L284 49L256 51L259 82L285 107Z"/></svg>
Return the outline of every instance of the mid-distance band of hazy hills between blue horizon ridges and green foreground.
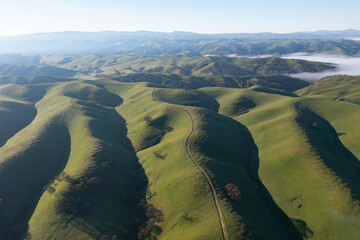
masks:
<svg viewBox="0 0 360 240"><path fill-rule="evenodd" d="M279 75L302 72L322 72L334 68L332 64L282 58L231 58L163 56L47 56L0 55L0 76L75 75L89 78L129 73L168 73L181 76L247 76Z"/></svg>

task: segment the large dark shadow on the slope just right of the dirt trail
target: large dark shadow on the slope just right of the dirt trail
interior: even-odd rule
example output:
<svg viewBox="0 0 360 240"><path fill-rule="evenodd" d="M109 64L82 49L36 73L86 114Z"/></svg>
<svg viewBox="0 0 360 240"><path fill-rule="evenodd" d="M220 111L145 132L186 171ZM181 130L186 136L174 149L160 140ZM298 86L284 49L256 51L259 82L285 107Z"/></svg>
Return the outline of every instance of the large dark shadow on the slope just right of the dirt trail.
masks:
<svg viewBox="0 0 360 240"><path fill-rule="evenodd" d="M276 205L258 176L258 149L249 130L217 113L198 110L191 151L206 169L228 211L228 225L243 226L234 238L301 239L301 234ZM235 184L241 198L232 200L225 185ZM227 213L229 214L229 213ZM225 216L227 215L225 214ZM228 217L230 218L230 217Z"/></svg>

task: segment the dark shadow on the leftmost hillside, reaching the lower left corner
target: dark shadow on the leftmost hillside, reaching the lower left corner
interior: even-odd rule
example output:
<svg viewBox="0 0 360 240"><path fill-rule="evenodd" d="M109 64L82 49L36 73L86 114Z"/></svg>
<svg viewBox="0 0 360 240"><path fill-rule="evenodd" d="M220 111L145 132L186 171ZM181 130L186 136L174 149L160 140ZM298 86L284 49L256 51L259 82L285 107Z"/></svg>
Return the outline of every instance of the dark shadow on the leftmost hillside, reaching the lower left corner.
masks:
<svg viewBox="0 0 360 240"><path fill-rule="evenodd" d="M70 154L70 135L62 124L46 131L24 152L11 158L0 174L4 197L0 235L4 239L25 236L28 221L46 189L65 167ZM11 183L11 184L9 184Z"/></svg>

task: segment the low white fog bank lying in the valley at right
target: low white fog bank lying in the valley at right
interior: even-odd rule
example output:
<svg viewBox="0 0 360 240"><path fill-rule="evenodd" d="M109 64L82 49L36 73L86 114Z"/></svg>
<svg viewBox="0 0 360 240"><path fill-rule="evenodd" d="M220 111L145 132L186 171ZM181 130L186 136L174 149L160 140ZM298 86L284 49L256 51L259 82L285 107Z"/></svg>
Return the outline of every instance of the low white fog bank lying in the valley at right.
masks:
<svg viewBox="0 0 360 240"><path fill-rule="evenodd" d="M314 62L326 62L335 64L336 68L330 71L319 73L296 73L290 74L292 77L301 78L304 80L318 80L323 77L333 75L360 75L360 57L347 57L340 55L328 55L328 54L308 54L308 53L295 53L289 55L283 55L282 58L286 59L301 59Z"/></svg>

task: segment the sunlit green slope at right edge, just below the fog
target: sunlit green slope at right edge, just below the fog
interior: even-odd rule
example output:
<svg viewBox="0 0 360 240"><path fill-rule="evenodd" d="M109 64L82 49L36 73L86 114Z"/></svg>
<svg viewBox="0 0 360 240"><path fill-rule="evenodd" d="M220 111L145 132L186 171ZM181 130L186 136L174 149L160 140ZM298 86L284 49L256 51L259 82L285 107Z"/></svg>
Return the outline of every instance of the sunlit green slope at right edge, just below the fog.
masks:
<svg viewBox="0 0 360 240"><path fill-rule="evenodd" d="M354 123L360 119L359 85L359 77L334 76L296 92L304 96L301 102L303 106L331 123L341 142L358 159L360 126Z"/></svg>

